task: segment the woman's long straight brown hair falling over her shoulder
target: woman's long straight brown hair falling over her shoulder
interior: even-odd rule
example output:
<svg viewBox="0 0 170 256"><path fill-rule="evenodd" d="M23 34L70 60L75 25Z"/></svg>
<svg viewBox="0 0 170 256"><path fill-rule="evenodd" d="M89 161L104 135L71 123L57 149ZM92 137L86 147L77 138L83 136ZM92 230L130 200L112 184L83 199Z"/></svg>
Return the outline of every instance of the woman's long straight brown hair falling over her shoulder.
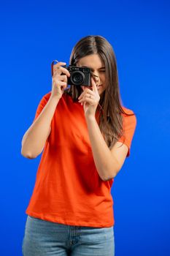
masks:
<svg viewBox="0 0 170 256"><path fill-rule="evenodd" d="M106 70L106 89L100 95L97 110L100 114L99 128L101 134L104 136L107 146L112 148L116 141L123 136L123 117L121 113L126 116L134 116L134 113L125 113L121 107L115 53L107 39L99 35L83 37L72 49L69 64L76 66L79 59L90 54L98 54L104 62ZM75 102L78 101L78 97L82 94L82 89L81 86L71 85L65 92L68 93Z"/></svg>

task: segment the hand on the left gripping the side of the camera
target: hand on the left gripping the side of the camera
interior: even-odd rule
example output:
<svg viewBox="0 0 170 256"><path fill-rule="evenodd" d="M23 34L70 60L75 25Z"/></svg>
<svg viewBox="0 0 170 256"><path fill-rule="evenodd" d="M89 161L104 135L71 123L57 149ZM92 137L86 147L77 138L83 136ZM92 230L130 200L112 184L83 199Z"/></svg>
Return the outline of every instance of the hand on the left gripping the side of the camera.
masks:
<svg viewBox="0 0 170 256"><path fill-rule="evenodd" d="M66 63L58 62L53 65L51 97L57 97L58 99L61 99L63 91L67 87L67 77L70 77L69 71L61 65L66 65ZM61 75L62 73L65 75Z"/></svg>

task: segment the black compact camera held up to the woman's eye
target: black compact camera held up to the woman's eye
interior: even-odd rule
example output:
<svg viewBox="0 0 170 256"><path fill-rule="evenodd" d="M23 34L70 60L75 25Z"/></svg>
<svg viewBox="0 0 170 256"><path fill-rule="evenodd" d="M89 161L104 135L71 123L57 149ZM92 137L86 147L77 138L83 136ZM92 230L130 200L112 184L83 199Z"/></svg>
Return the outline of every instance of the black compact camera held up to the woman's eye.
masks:
<svg viewBox="0 0 170 256"><path fill-rule="evenodd" d="M65 67L70 73L68 84L73 86L90 86L90 68L89 67Z"/></svg>

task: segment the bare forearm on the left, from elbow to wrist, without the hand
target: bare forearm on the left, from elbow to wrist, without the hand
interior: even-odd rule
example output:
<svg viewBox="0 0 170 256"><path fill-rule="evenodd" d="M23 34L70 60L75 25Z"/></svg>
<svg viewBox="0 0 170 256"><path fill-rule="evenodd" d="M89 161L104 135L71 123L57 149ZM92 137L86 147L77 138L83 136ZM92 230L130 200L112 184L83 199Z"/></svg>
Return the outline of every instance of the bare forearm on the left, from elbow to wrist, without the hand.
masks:
<svg viewBox="0 0 170 256"><path fill-rule="evenodd" d="M50 97L45 108L26 131L21 148L21 154L24 157L35 158L42 152L50 132L50 123L58 101L58 98Z"/></svg>

